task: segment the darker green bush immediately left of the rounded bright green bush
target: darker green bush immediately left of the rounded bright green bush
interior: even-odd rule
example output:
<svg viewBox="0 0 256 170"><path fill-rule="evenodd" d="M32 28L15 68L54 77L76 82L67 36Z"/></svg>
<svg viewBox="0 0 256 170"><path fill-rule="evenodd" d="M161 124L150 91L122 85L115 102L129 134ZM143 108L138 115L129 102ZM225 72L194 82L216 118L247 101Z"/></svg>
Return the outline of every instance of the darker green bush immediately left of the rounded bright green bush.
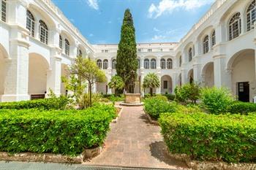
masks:
<svg viewBox="0 0 256 170"><path fill-rule="evenodd" d="M176 88L175 94L177 101L196 104L197 100L200 98L200 85L195 82L187 83L182 85L181 88Z"/></svg>

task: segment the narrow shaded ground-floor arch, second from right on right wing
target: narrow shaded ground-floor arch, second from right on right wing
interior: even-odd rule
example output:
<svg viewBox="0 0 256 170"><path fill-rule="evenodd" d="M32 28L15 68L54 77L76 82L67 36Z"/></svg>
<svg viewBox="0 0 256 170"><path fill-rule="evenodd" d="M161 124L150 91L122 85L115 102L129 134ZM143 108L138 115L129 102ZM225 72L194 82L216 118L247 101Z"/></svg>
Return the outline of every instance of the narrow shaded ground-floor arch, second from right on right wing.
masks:
<svg viewBox="0 0 256 170"><path fill-rule="evenodd" d="M203 86L214 87L214 62L206 63L202 71Z"/></svg>

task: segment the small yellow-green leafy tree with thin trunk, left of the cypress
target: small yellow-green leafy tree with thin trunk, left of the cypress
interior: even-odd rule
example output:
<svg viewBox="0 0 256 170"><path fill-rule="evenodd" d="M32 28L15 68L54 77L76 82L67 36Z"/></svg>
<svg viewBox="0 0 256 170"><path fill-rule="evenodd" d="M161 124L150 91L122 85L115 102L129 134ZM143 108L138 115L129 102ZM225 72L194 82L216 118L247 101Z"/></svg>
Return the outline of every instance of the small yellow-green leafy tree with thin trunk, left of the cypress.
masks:
<svg viewBox="0 0 256 170"><path fill-rule="evenodd" d="M84 95L86 84L88 84L89 106L91 106L91 87L96 82L105 82L105 73L99 69L94 61L82 56L75 58L75 62L70 66L69 72L71 76L69 81L66 80L67 89L74 92L74 96L78 101Z"/></svg>

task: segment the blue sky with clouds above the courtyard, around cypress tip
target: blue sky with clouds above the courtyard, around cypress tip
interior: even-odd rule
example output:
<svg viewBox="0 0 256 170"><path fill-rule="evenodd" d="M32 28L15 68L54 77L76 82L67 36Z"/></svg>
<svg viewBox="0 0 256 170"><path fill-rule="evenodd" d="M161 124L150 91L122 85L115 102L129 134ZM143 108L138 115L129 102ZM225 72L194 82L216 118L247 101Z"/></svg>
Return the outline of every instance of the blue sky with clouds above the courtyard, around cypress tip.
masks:
<svg viewBox="0 0 256 170"><path fill-rule="evenodd" d="M52 0L91 44L118 43L129 8L137 42L178 42L214 0Z"/></svg>

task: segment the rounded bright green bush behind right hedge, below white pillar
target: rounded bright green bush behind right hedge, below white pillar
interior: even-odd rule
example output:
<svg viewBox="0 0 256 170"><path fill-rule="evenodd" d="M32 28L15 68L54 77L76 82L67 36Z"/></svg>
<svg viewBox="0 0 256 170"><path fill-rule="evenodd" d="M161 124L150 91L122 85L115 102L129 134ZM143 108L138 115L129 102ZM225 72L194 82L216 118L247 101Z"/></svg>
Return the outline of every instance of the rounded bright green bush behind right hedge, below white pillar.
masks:
<svg viewBox="0 0 256 170"><path fill-rule="evenodd" d="M233 101L232 94L226 88L204 88L201 93L203 106L212 114L227 112Z"/></svg>

